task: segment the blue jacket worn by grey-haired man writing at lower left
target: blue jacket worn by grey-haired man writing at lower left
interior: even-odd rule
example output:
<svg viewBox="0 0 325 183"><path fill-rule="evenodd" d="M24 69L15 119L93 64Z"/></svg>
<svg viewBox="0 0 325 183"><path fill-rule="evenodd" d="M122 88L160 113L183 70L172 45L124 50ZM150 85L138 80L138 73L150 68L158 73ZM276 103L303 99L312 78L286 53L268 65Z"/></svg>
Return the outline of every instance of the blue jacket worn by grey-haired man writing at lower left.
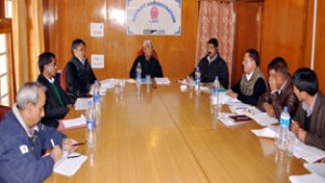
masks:
<svg viewBox="0 0 325 183"><path fill-rule="evenodd" d="M0 121L0 182L39 183L51 175L54 160L41 157L41 152L52 148L51 139L62 145L65 134L38 123L39 135L35 149L32 141L12 110Z"/></svg>

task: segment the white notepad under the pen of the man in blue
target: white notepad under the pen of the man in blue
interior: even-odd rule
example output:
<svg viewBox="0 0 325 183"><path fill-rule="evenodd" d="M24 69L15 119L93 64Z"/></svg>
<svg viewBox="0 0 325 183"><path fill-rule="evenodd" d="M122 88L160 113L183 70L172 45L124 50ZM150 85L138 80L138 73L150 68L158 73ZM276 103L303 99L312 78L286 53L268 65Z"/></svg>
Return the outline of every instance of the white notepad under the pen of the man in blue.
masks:
<svg viewBox="0 0 325 183"><path fill-rule="evenodd" d="M67 177L74 175L82 164L87 160L87 156L80 155L78 153L72 153L70 155L65 155L58 160L53 168L55 173L64 174ZM72 156L79 156L75 158L68 158Z"/></svg>

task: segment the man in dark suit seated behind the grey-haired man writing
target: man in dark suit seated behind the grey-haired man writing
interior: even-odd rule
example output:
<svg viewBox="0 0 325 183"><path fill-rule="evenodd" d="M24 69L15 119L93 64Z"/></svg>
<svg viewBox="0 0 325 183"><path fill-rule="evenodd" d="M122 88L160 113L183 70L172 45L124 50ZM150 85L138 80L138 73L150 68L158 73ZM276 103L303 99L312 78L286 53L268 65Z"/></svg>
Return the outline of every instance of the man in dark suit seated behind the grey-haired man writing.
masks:
<svg viewBox="0 0 325 183"><path fill-rule="evenodd" d="M57 128L57 119L62 119L72 108L72 102L66 93L62 90L56 75L56 58L51 52L44 52L38 56L38 67L40 75L37 81L47 88L47 102L44 106L46 116L41 122L46 126Z"/></svg>

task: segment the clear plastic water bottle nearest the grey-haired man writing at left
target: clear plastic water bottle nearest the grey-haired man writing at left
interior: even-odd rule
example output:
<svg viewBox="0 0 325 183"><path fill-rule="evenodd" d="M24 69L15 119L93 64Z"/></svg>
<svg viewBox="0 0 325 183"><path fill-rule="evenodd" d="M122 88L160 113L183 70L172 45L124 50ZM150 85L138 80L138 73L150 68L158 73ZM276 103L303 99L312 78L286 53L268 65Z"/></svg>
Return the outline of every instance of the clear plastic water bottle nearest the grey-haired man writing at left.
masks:
<svg viewBox="0 0 325 183"><path fill-rule="evenodd" d="M92 102L88 102L88 108L86 110L87 121L87 145L92 148L95 146L95 126L96 126L96 114L92 106Z"/></svg>

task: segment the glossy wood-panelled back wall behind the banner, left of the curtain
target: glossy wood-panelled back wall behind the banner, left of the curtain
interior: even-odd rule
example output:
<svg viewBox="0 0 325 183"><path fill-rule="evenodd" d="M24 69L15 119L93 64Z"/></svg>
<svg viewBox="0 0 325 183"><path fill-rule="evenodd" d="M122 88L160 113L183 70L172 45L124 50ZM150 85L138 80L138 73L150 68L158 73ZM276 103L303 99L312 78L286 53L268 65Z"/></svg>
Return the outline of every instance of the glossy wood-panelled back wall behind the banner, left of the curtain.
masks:
<svg viewBox="0 0 325 183"><path fill-rule="evenodd" d="M98 79L128 78L132 63L144 39L152 39L164 74L185 77L195 64L198 4L182 1L181 36L127 36L122 22L113 18L114 12L126 12L125 0L43 0L46 50L56 54L58 68L72 56L70 43L81 38L87 55L104 54L105 68L94 69ZM104 23L104 38L90 37L90 23Z"/></svg>

